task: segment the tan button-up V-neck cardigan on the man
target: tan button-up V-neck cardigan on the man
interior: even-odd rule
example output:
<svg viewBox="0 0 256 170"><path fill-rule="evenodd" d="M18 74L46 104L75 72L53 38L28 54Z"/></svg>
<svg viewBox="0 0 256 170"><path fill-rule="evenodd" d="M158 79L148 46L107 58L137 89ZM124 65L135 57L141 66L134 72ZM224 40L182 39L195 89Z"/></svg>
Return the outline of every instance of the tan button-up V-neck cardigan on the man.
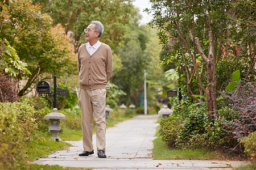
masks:
<svg viewBox="0 0 256 170"><path fill-rule="evenodd" d="M112 74L113 57L111 48L101 43L90 56L85 44L79 47L77 69L79 71L79 87L84 90L106 88Z"/></svg>

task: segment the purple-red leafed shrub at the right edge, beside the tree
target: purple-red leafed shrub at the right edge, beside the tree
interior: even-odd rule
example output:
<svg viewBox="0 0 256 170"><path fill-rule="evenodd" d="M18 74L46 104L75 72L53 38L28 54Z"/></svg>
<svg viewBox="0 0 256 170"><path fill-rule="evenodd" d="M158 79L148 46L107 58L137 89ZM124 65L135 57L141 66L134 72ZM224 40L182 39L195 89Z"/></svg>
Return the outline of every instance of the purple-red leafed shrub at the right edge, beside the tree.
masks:
<svg viewBox="0 0 256 170"><path fill-rule="evenodd" d="M233 114L232 120L226 117L220 118L220 122L228 133L234 138L244 139L247 135L256 130L256 88L250 82L238 83L236 91L223 94L227 112Z"/></svg>

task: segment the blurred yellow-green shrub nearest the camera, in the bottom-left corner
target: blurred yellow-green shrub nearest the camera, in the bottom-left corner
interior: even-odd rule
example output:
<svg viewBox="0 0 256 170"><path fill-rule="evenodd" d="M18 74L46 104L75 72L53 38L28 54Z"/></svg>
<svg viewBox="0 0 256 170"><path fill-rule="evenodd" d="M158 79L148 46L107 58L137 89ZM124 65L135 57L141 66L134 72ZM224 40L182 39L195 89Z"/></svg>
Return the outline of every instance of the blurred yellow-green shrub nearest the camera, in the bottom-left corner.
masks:
<svg viewBox="0 0 256 170"><path fill-rule="evenodd" d="M23 133L16 126L18 111L0 103L0 169L15 168L22 159Z"/></svg>

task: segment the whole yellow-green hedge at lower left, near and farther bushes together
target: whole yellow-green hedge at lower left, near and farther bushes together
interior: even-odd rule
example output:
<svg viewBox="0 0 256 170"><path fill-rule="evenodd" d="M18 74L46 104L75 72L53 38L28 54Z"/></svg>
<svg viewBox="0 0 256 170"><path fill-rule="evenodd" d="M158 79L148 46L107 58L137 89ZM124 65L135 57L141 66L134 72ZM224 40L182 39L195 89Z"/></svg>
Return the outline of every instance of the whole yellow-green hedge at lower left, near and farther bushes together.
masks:
<svg viewBox="0 0 256 170"><path fill-rule="evenodd" d="M34 109L26 103L0 103L0 169L15 169L22 148L36 135Z"/></svg>

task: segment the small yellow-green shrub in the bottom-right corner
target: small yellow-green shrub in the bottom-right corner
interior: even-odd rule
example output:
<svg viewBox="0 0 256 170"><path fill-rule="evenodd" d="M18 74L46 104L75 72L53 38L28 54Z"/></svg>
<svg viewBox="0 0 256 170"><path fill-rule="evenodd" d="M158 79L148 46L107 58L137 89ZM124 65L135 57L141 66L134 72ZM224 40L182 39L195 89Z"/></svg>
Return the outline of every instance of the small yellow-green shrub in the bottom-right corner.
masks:
<svg viewBox="0 0 256 170"><path fill-rule="evenodd" d="M245 152L255 158L256 156L256 131L250 133L245 140L242 141L245 146Z"/></svg>

